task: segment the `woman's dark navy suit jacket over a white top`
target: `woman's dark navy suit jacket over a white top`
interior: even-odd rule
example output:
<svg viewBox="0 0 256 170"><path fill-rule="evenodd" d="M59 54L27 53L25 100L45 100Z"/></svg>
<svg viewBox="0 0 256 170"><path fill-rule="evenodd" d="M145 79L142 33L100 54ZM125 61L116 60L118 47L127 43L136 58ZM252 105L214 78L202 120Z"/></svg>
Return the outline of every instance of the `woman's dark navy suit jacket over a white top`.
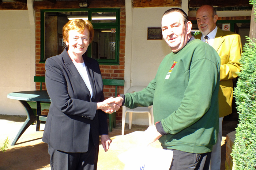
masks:
<svg viewBox="0 0 256 170"><path fill-rule="evenodd" d="M101 71L96 60L83 55L93 97L68 55L67 48L45 62L45 83L52 103L42 141L55 150L85 153L91 133L95 147L99 134L108 134L107 115L96 110L104 100Z"/></svg>

